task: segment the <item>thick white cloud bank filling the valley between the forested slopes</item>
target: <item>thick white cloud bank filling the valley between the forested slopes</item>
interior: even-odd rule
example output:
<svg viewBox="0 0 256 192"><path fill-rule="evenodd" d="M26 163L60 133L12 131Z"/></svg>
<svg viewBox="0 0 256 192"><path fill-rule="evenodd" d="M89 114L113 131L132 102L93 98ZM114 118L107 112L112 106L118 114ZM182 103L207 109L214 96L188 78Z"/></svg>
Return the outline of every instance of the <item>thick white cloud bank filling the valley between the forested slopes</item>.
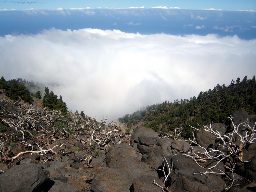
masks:
<svg viewBox="0 0 256 192"><path fill-rule="evenodd" d="M0 37L0 58L0 76L43 83L68 110L100 120L252 78L256 40L52 28Z"/></svg>

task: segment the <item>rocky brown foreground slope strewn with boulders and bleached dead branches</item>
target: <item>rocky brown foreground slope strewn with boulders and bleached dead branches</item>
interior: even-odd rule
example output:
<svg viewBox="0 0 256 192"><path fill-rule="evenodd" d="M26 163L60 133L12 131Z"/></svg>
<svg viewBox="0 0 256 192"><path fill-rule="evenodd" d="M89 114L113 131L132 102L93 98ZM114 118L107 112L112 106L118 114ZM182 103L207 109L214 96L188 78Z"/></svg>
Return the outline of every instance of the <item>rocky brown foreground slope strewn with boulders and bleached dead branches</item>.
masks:
<svg viewBox="0 0 256 192"><path fill-rule="evenodd" d="M253 116L157 133L0 100L0 191L256 191Z"/></svg>

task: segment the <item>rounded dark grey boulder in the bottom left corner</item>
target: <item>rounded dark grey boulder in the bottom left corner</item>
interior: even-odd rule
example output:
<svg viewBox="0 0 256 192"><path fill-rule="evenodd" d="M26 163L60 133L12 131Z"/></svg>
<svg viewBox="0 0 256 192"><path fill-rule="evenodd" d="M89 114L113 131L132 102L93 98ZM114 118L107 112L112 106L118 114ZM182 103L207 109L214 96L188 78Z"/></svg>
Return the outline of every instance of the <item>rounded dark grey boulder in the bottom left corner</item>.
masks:
<svg viewBox="0 0 256 192"><path fill-rule="evenodd" d="M40 164L13 166L0 175L0 191L32 192L43 189L50 173Z"/></svg>

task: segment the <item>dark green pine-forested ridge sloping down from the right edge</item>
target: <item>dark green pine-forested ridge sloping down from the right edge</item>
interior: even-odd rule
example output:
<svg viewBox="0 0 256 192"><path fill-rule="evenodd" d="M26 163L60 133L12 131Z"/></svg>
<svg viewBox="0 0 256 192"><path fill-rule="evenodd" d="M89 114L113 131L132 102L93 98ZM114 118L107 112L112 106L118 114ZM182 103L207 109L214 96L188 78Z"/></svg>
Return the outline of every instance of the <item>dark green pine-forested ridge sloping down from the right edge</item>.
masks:
<svg viewBox="0 0 256 192"><path fill-rule="evenodd" d="M244 110L253 115L256 113L256 81L255 76L240 81L238 77L231 80L230 85L217 84L213 89L200 92L196 97L188 99L164 101L163 103L143 107L133 114L127 114L118 120L132 125L141 124L157 132L174 131L182 127L182 136L191 136L191 126L198 127L203 124L223 123L227 117L236 110ZM200 126L198 125L200 124Z"/></svg>

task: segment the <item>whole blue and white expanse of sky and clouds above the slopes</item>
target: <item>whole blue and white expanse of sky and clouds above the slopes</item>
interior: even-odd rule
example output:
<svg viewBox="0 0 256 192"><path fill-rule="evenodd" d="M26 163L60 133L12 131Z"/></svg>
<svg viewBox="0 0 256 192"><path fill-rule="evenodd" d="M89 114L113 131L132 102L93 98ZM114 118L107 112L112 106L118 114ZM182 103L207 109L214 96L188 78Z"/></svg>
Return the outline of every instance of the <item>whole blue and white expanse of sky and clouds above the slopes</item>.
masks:
<svg viewBox="0 0 256 192"><path fill-rule="evenodd" d="M0 76L48 86L97 120L256 72L256 1L4 2Z"/></svg>

